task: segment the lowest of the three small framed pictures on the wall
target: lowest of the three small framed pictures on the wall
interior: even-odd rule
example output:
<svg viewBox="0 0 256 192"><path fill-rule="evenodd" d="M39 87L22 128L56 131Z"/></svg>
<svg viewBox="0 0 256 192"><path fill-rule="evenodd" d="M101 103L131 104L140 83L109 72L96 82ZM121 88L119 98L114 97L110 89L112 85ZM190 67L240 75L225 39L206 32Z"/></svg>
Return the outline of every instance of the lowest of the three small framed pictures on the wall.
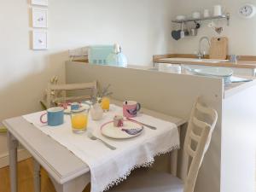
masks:
<svg viewBox="0 0 256 192"><path fill-rule="evenodd" d="M43 50L47 49L47 32L44 31L34 31L32 32L32 49Z"/></svg>

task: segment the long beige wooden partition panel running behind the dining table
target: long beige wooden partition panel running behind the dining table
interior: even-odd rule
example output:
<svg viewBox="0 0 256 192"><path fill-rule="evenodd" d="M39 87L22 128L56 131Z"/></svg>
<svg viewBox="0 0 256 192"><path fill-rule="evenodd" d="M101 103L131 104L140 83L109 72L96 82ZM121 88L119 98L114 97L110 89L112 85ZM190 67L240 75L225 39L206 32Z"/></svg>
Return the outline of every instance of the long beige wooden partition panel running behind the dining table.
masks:
<svg viewBox="0 0 256 192"><path fill-rule="evenodd" d="M182 119L189 118L196 97L202 96L203 102L218 111L219 119L195 191L220 191L221 110L224 90L222 79L132 68L89 66L70 61L67 61L66 73L67 83L98 80L100 85L112 84L114 99L137 100L144 108Z"/></svg>

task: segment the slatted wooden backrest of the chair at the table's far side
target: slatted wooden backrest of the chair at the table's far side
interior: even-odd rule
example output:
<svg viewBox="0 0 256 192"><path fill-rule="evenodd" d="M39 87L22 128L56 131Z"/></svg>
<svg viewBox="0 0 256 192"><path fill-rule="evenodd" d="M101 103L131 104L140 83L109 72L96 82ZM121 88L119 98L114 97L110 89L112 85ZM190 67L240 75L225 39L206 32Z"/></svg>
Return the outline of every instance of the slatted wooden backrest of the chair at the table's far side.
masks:
<svg viewBox="0 0 256 192"><path fill-rule="evenodd" d="M96 81L83 84L48 84L47 89L47 108L50 108L53 103L58 102L73 102L90 99L91 93L82 96L67 96L67 90L96 90Z"/></svg>

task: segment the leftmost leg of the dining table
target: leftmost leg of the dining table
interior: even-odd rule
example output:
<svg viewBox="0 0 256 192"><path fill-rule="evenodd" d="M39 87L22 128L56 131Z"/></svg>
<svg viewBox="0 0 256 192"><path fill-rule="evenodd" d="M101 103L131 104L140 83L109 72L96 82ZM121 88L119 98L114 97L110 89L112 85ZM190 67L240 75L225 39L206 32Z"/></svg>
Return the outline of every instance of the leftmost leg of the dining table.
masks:
<svg viewBox="0 0 256 192"><path fill-rule="evenodd" d="M17 177L17 148L18 141L8 131L8 146L9 146L9 175L10 175L10 191L17 192L18 177Z"/></svg>

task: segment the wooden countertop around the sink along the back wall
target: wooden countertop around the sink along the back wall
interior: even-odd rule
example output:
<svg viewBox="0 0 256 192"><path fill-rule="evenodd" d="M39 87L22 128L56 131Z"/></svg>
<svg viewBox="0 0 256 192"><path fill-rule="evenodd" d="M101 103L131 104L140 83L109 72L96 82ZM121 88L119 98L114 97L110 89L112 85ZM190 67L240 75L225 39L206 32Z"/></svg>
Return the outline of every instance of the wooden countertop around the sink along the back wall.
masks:
<svg viewBox="0 0 256 192"><path fill-rule="evenodd" d="M213 67L235 67L235 68L248 68L256 69L256 56L241 56L241 60L237 63L226 61L226 62L203 62L203 61L172 61L172 58L193 58L195 55L154 55L153 61L155 63L172 63L172 64L189 64L189 65L201 65L201 66L213 66ZM206 57L207 58L207 57Z"/></svg>

